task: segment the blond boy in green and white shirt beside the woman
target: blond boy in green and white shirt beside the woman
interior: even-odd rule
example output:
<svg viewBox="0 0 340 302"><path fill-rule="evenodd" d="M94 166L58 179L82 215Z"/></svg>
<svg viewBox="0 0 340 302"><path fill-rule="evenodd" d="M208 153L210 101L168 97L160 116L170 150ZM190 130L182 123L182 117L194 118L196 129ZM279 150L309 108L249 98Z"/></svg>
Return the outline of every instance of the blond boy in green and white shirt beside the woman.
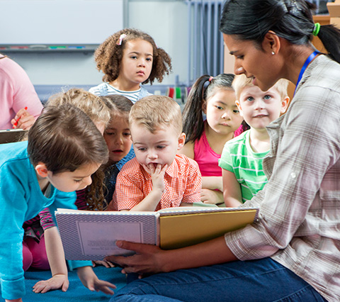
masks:
<svg viewBox="0 0 340 302"><path fill-rule="evenodd" d="M261 91L244 74L236 76L232 86L237 107L250 129L229 140L223 148L223 197L226 206L239 206L250 200L267 182L262 162L270 150L266 126L285 113L288 106L288 81L280 79L268 91Z"/></svg>

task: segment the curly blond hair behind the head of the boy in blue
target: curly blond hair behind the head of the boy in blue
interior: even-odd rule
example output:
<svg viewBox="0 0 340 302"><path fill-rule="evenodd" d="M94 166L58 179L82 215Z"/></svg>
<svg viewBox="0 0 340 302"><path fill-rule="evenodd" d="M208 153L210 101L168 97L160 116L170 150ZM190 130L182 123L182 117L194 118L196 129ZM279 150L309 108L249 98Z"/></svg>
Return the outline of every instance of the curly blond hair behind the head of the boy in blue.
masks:
<svg viewBox="0 0 340 302"><path fill-rule="evenodd" d="M55 94L47 101L47 106L62 106L72 104L89 116L94 123L108 124L111 118L111 112L108 106L99 96L91 94L81 88L72 88L66 92Z"/></svg>

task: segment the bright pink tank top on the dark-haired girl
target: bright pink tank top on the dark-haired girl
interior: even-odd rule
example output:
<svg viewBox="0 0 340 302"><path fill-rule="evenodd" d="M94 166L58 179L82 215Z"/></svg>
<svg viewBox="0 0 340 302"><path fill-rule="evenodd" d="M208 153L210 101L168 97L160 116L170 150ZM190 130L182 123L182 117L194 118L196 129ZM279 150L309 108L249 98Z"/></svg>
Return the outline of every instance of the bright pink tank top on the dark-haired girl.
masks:
<svg viewBox="0 0 340 302"><path fill-rule="evenodd" d="M222 177L222 168L218 167L220 157L221 155L211 149L203 130L200 139L195 141L193 147L193 159L198 163L203 177Z"/></svg>

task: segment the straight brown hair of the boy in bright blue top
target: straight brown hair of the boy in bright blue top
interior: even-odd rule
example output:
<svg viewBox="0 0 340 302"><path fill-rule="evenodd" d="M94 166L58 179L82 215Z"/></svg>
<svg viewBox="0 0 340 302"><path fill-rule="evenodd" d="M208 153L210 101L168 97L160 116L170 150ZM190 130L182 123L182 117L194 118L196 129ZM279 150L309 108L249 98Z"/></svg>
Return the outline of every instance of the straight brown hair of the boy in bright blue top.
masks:
<svg viewBox="0 0 340 302"><path fill-rule="evenodd" d="M108 161L103 135L79 108L47 106L28 131L28 155L33 165L42 162L52 173Z"/></svg>

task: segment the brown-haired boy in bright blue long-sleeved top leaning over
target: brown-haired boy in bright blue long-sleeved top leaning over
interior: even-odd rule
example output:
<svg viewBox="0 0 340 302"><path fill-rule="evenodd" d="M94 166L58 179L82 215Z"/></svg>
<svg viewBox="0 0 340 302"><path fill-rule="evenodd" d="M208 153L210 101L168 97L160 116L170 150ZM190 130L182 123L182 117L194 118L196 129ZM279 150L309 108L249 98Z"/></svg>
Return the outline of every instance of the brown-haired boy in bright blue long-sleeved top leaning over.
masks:
<svg viewBox="0 0 340 302"><path fill-rule="evenodd" d="M6 301L22 301L23 222L49 206L74 208L74 191L91 184L108 160L106 142L96 125L70 104L45 108L28 133L28 141L0 145L0 281ZM59 274L60 272L53 272ZM79 271L90 290L113 293L91 267Z"/></svg>

